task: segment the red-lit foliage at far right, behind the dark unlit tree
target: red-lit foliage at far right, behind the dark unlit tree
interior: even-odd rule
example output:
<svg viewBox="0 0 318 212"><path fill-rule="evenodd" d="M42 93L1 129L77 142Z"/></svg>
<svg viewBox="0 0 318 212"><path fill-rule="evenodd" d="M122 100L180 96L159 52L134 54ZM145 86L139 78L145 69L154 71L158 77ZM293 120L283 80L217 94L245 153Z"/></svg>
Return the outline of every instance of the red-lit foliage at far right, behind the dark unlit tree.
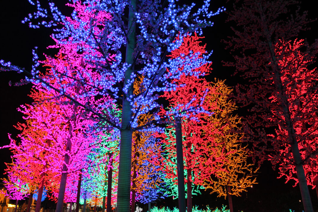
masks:
<svg viewBox="0 0 318 212"><path fill-rule="evenodd" d="M304 40L280 41L275 46L275 53L280 56L278 57L280 69L284 70L280 78L288 96L290 119L294 126L294 135L301 154L307 184L315 187L314 179L318 172L318 124L316 122L318 118L316 106L318 94L317 91L313 91L313 86L318 78L317 69L308 69L307 67L312 59L307 58L308 56L300 51L300 48L305 45ZM278 95L275 93L269 97L271 103L279 103ZM309 97L310 99L308 99ZM298 179L293 153L290 151L290 145L287 144L288 132L282 121L285 117L281 112L277 112L277 110L272 109L272 113L277 115L270 120L278 123L278 128L275 129L275 133L269 134L276 140L274 150L277 154L270 154L269 158L273 165L278 165L280 177L285 176L286 181L294 180L296 185ZM282 157L286 159L282 161Z"/></svg>

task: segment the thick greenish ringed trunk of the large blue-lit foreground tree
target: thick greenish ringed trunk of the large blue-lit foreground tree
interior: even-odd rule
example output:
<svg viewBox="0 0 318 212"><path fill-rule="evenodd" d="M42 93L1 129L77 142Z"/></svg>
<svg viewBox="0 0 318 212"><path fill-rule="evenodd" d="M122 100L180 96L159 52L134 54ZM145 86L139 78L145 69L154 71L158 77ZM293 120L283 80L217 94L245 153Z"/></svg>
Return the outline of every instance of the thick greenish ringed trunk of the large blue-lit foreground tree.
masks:
<svg viewBox="0 0 318 212"><path fill-rule="evenodd" d="M135 48L135 11L136 0L130 0L128 13L128 33L126 41L126 59L127 64L132 65L133 52ZM130 80L130 75L134 67L130 66L124 74L124 86ZM117 190L117 211L130 211L130 172L131 172L131 140L132 129L130 125L132 117L132 106L130 105L130 96L133 95L133 86L128 87L128 91L123 96L121 113L121 143L119 153L118 167L118 190Z"/></svg>

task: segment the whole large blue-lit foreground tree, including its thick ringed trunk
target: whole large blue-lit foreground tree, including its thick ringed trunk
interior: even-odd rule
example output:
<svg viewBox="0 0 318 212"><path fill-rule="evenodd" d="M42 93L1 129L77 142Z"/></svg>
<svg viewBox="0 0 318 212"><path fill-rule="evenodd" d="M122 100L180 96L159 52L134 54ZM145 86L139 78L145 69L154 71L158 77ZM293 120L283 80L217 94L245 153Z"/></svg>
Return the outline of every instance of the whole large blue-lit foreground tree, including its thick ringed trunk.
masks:
<svg viewBox="0 0 318 212"><path fill-rule="evenodd" d="M29 2L35 5L31 0ZM26 81L58 91L59 95L70 99L70 104L75 103L92 113L90 118L107 123L103 128L120 130L117 211L126 212L129 210L132 131L154 130L158 123L166 120L166 117L156 115L160 107L158 92L176 89L178 85L173 79L179 79L181 75L203 76L204 73L196 69L209 63L210 54L190 52L187 55L180 53L175 58L167 56L183 43L184 36L193 32L201 35L203 28L212 26L211 17L224 9L212 12L209 0L196 11L195 3L178 6L174 0L164 3L160 0L73 0L67 5L73 8L70 17L64 16L52 1L49 9L37 2L37 11L23 22L32 28L52 27L52 38L57 43L53 47L66 46L61 53L66 59L78 58L80 65L73 65L72 69L53 66L52 74L43 75L38 70L40 63L34 51L35 65L31 72L4 61L1 61L1 69L29 73ZM34 24L35 19L41 20ZM137 75L144 77L140 85L142 92L133 95ZM74 87L77 93L70 92ZM86 103L76 100L85 98ZM190 101L193 99L195 96ZM121 105L121 121L107 110L109 102ZM201 110L190 104L175 107L172 110L175 113L171 115L176 117ZM188 113L183 113L185 110ZM138 126L138 117L148 112L154 113L155 119ZM57 212L62 203L63 200L58 200Z"/></svg>

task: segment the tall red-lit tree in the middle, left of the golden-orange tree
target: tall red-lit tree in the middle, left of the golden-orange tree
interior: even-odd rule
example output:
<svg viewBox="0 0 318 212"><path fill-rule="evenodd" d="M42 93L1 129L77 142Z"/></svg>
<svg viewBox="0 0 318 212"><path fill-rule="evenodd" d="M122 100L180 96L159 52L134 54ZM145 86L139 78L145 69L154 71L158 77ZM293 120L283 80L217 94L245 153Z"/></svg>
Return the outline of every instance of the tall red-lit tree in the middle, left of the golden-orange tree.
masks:
<svg viewBox="0 0 318 212"><path fill-rule="evenodd" d="M186 57L190 52L194 52L199 56L205 53L205 46L200 45L200 37L187 36L184 38L183 44L176 50L171 52L169 55L171 58ZM201 67L198 67L195 71L208 74L210 72L211 64L204 64ZM169 102L172 110L169 108L164 113L171 113L175 108L185 111L185 116L182 120L182 136L183 136L183 157L184 157L184 167L186 169L186 184L187 184L187 209L188 212L192 210L192 193L198 194L200 191L198 188L195 188L195 185L198 185L198 180L203 176L210 176L211 173L214 173L219 167L215 166L216 161L221 160L219 158L220 154L217 155L213 144L217 146L214 141L214 138L211 136L206 136L206 134L216 133L215 128L212 123L206 121L207 114L215 109L216 104L211 102L209 104L202 104L206 95L211 95L214 90L209 88L207 82L203 78L198 78L197 76L185 76L182 75L180 79L175 80L175 83L179 85L174 91L165 92L162 97L165 97ZM210 89L210 91L209 91ZM196 98L192 98L192 94L196 93ZM205 112L202 113L188 113L187 108L198 107L202 104L202 107ZM214 104L214 105L213 105ZM206 134L203 134L203 132ZM174 126L169 126L166 128L166 135L163 136L163 148L165 149L165 162L167 164L163 165L164 172L167 172L166 180L170 181L170 188L172 188L170 195L177 195L178 191L176 190L176 179L177 173L176 168L176 147L175 141L176 134ZM205 143L205 144L204 144ZM211 143L211 151L208 153L208 149L205 148L207 143ZM214 153L213 153L214 152ZM214 162L210 160L209 165L206 166L206 172L203 174L202 167L200 166L199 161L202 157L213 157ZM173 170L173 172L172 172ZM200 173L200 174L199 174ZM199 177L200 175L200 177ZM199 186L200 188L200 186ZM202 187L201 187L202 188ZM178 188L183 189L183 188Z"/></svg>

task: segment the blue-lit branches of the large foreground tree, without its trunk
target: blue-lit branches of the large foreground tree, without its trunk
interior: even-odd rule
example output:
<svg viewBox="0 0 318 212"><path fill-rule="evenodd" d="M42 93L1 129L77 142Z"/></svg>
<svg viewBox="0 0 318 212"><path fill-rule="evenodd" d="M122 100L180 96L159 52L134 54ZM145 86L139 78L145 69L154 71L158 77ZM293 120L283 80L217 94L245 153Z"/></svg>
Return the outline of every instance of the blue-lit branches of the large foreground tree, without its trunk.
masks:
<svg viewBox="0 0 318 212"><path fill-rule="evenodd" d="M31 71L33 78L29 80L36 84L41 82L43 86L50 89L47 84L55 79L61 84L60 94L68 94L69 87L80 83L83 88L82 92L77 94L77 98L89 98L97 95L108 96L111 94L110 97L114 101L121 101L122 97L126 97L133 107L133 113L136 114L132 117L131 126L133 128L137 127L138 117L141 114L149 113L160 107L160 104L156 102L158 98L156 93L176 90L178 85L172 79L179 79L182 74L196 77L204 75L204 73L194 70L209 63L208 58L211 53L201 55L201 57L192 53L185 57L173 59L167 58L167 54L182 44L184 36L193 32L202 33L202 28L212 25L209 18L225 10L219 8L216 12L212 12L209 10L210 1L207 0L196 11L193 11L194 3L190 6L177 6L174 0L168 2L165 8L162 8L159 0L138 2L135 18L136 26L140 32L136 34L136 48L133 57L135 57L135 64L141 67L132 72L130 79L122 87L124 73L131 66L131 64L125 63L121 56L122 47L126 45L126 36L129 30L126 20L122 17L125 15L124 9L129 7L129 1L73 1L73 3L68 4L74 8L71 17L64 16L53 2L49 3L49 10L47 10L42 8L38 1L36 4L30 1L31 4L36 5L37 12L25 17L23 23L28 22L30 27L41 25L53 27L55 33L52 34L52 38L57 42L54 47L63 49L64 46L70 44L77 46L78 50L83 52L84 64L96 70L100 77L96 80L93 76L90 76L92 72L87 72L87 68L83 69L83 67L65 68L64 73L52 67L52 74L43 78L39 76L38 56L33 51L34 65ZM37 19L42 19L42 21L33 24L32 20ZM168 53L165 53L163 49L167 49ZM68 53L66 50L63 51ZM72 62L68 61L67 58L65 61ZM1 65L9 67L3 61L1 61ZM17 70L17 67L11 66L10 68ZM21 72L21 70L19 71ZM77 73L75 75L71 74L74 71ZM142 93L137 96L129 96L129 87L135 82L137 73L144 78L141 84ZM76 80L73 80L70 84L65 84L65 78L67 77ZM143 106L139 107L139 105ZM179 113L182 111L180 108L183 108L192 111L192 113L202 112L202 108L191 109L189 105L180 105L173 111ZM109 107L109 104L100 101L93 105L91 103L90 106L91 109L100 112L96 108L107 111L105 109ZM177 115L183 116L186 114L189 113L179 113ZM111 119L110 116L107 117ZM157 120L160 119L160 117L156 117ZM120 121L116 119L114 125L120 128ZM153 123L149 127L153 129Z"/></svg>

